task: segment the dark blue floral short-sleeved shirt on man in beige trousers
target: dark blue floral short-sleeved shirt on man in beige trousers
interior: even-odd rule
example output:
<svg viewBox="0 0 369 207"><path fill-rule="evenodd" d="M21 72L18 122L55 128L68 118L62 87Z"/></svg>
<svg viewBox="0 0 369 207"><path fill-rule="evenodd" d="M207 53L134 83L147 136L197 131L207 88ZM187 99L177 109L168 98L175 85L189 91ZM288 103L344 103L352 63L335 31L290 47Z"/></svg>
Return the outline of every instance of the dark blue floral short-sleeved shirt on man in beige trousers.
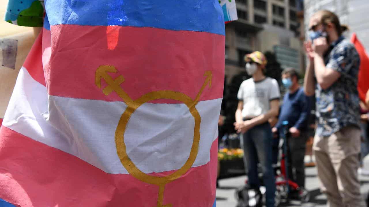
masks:
<svg viewBox="0 0 369 207"><path fill-rule="evenodd" d="M346 126L359 126L359 94L357 90L360 58L355 46L341 36L332 43L325 57L327 68L341 77L323 90L315 88L319 136L328 137Z"/></svg>

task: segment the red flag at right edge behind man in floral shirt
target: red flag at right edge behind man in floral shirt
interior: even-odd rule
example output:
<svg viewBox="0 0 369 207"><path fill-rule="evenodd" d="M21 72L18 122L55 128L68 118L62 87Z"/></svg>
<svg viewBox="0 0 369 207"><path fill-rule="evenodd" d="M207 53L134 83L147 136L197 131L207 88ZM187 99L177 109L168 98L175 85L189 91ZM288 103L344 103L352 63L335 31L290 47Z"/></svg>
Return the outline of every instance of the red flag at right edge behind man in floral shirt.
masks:
<svg viewBox="0 0 369 207"><path fill-rule="evenodd" d="M369 81L366 81L366 78L369 77L369 57L365 52L364 46L358 40L355 33L351 36L351 42L354 43L355 48L360 56L358 91L360 100L365 102L365 95L369 89Z"/></svg>

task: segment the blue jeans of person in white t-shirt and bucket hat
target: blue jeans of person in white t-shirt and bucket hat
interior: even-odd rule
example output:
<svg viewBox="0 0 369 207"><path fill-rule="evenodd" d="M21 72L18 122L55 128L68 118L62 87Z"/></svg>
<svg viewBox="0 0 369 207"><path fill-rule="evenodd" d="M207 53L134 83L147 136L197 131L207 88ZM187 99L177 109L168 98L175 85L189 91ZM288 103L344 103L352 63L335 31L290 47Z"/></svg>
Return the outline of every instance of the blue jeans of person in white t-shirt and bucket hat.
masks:
<svg viewBox="0 0 369 207"><path fill-rule="evenodd" d="M248 169L250 187L259 189L258 162L261 164L266 188L266 207L274 207L276 192L275 175L272 167L272 129L268 122L255 126L242 135L245 151L244 162Z"/></svg>

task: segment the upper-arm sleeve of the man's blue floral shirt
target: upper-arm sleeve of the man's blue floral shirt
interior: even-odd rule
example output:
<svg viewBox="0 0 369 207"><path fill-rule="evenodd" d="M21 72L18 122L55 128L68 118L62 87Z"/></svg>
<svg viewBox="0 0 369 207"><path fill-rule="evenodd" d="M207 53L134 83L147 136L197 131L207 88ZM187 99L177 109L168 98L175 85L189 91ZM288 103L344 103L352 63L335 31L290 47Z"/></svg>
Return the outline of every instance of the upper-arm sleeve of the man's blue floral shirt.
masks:
<svg viewBox="0 0 369 207"><path fill-rule="evenodd" d="M331 55L326 67L342 74L349 74L352 66L358 66L359 64L360 58L354 45L347 44L339 47Z"/></svg>

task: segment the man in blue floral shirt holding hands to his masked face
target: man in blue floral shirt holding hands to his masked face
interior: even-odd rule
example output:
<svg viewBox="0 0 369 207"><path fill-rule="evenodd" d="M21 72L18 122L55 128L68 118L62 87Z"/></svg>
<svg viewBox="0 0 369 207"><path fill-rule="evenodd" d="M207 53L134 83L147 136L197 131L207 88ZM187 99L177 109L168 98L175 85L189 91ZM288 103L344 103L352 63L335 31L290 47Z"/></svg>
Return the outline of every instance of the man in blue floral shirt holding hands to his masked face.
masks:
<svg viewBox="0 0 369 207"><path fill-rule="evenodd" d="M305 49L310 59L304 88L316 98L317 130L313 151L328 206L364 207L358 168L360 153L359 54L347 41L336 14L323 10L310 19Z"/></svg>

